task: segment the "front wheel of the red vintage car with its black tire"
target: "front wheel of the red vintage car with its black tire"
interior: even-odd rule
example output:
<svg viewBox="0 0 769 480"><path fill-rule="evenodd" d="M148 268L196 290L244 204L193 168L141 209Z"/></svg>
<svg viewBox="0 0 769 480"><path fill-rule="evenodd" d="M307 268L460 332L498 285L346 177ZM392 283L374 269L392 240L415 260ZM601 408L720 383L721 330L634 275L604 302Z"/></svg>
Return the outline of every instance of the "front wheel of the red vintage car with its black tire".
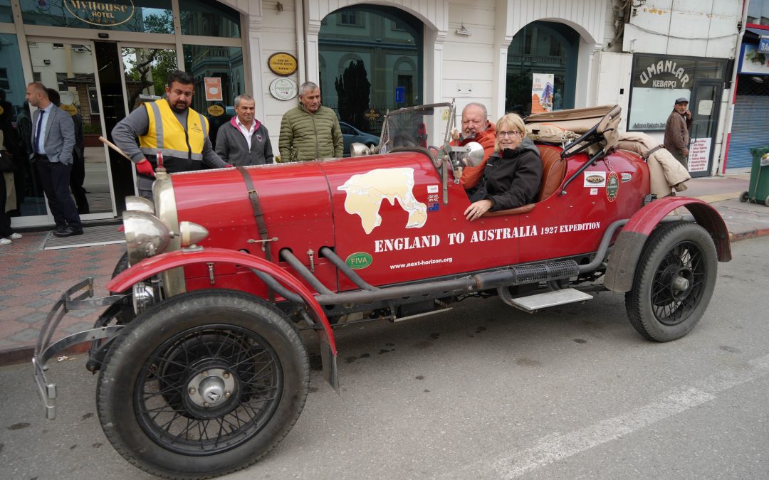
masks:
<svg viewBox="0 0 769 480"><path fill-rule="evenodd" d="M237 381L231 396L223 396L219 412L198 415L195 408L203 408L191 405L186 381L227 361L223 371ZM305 406L309 372L297 329L275 306L246 293L199 290L121 330L100 372L96 404L105 435L128 462L161 477L209 478L245 468L281 442ZM195 425L205 436L190 438Z"/></svg>

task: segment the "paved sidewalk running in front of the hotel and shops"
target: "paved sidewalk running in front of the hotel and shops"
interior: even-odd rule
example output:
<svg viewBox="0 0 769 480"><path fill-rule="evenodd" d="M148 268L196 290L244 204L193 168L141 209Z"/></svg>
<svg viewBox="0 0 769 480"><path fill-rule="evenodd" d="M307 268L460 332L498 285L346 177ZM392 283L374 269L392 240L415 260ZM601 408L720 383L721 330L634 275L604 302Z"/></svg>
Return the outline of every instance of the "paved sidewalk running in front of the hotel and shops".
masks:
<svg viewBox="0 0 769 480"><path fill-rule="evenodd" d="M749 174L692 179L681 194L712 204L724 217L733 241L769 235L769 207L738 200L748 189L748 180ZM105 284L125 252L122 244L42 250L48 231L22 233L22 240L0 247L0 366L32 358L45 316L75 283L93 276L95 296L108 295ZM101 312L68 313L57 335L92 328Z"/></svg>

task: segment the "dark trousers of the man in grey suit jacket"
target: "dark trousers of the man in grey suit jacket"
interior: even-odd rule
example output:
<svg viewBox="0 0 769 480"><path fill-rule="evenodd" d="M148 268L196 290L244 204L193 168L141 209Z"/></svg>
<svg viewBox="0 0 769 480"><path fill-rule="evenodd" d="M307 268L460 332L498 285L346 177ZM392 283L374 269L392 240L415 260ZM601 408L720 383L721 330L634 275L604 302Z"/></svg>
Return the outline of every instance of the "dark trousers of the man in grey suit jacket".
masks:
<svg viewBox="0 0 769 480"><path fill-rule="evenodd" d="M69 176L72 164L48 161L48 157L38 155L35 168L40 176L48 207L51 209L57 227L82 228L78 207L69 195Z"/></svg>

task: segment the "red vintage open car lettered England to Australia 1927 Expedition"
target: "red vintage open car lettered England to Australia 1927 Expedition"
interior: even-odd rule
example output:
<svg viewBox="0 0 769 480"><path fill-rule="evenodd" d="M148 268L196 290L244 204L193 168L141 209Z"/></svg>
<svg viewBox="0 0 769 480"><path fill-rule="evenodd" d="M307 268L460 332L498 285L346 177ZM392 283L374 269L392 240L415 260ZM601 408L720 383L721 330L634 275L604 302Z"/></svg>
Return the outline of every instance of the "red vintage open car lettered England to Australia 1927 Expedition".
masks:
<svg viewBox="0 0 769 480"><path fill-rule="evenodd" d="M528 118L592 126L538 144L536 204L473 222L457 175L480 146L450 145L454 118L453 104L395 111L376 154L359 145L350 159L159 172L154 204L127 201L114 294L89 298L85 280L45 321L33 363L48 417L46 362L90 341L115 449L155 475L205 478L256 462L298 419L310 377L299 329L317 333L338 389L335 326L439 313L467 296L531 312L611 290L647 339L694 327L717 261L731 259L727 229L701 200L649 194L644 157L614 148L619 108ZM86 306L107 307L95 328L52 341Z"/></svg>

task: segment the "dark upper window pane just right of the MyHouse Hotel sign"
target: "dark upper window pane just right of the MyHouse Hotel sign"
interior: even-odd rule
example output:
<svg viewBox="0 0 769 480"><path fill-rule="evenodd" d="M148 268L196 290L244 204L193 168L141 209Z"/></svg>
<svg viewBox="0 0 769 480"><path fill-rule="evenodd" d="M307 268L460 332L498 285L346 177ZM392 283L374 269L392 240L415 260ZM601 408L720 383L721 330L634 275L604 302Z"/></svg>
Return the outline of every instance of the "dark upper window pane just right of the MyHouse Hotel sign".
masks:
<svg viewBox="0 0 769 480"><path fill-rule="evenodd" d="M181 35L240 38L240 14L219 2L185 0L179 2Z"/></svg>

